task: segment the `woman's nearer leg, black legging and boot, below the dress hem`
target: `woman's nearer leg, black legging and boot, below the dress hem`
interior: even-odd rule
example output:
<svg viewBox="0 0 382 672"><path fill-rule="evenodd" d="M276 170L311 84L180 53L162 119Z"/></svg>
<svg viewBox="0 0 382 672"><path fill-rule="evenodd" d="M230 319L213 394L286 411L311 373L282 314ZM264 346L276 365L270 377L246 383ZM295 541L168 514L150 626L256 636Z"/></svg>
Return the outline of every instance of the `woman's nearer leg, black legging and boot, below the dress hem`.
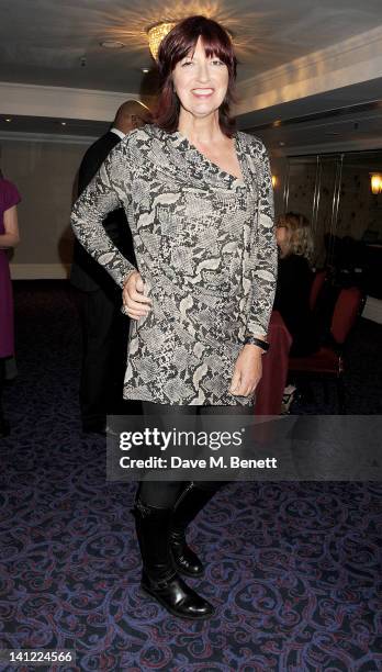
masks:
<svg viewBox="0 0 382 672"><path fill-rule="evenodd" d="M143 402L143 412L146 416L191 415L195 407ZM142 481L138 485L133 514L143 560L141 586L175 616L204 619L214 608L179 576L170 551L173 504L183 485L179 481Z"/></svg>

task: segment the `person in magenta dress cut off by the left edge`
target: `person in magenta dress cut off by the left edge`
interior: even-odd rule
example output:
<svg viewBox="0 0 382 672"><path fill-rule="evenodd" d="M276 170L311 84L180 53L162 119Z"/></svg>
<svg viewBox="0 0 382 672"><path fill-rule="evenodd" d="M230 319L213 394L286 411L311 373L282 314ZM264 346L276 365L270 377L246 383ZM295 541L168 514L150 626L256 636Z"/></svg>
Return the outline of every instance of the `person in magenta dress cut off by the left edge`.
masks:
<svg viewBox="0 0 382 672"><path fill-rule="evenodd" d="M13 296L7 250L19 244L16 204L20 194L0 171L0 438L10 433L9 422L2 412L2 393L5 381L5 360L14 355Z"/></svg>

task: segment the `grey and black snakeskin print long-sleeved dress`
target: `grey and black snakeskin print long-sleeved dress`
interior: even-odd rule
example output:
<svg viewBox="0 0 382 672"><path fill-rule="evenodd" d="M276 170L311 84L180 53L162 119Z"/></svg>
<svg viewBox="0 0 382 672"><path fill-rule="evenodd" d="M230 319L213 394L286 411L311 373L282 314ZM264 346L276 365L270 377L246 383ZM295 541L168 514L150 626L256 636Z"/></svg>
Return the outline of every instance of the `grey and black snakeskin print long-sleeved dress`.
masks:
<svg viewBox="0 0 382 672"><path fill-rule="evenodd" d="M160 404L251 405L228 392L247 334L266 335L277 247L269 161L262 143L236 133L243 181L179 132L128 133L75 203L83 247L123 287L134 267L106 236L108 212L125 209L147 316L131 321L124 397Z"/></svg>

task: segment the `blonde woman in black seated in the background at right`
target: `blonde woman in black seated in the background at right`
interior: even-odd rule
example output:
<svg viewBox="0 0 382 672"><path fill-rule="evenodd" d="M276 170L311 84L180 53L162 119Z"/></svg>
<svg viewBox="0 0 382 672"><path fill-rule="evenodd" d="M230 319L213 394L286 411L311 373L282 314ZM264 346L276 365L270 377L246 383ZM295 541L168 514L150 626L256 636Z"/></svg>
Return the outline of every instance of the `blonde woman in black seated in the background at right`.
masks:
<svg viewBox="0 0 382 672"><path fill-rule="evenodd" d="M293 338L291 355L312 355L319 347L318 331L310 307L313 282L313 238L308 220L288 212L278 219L279 272L274 309Z"/></svg>

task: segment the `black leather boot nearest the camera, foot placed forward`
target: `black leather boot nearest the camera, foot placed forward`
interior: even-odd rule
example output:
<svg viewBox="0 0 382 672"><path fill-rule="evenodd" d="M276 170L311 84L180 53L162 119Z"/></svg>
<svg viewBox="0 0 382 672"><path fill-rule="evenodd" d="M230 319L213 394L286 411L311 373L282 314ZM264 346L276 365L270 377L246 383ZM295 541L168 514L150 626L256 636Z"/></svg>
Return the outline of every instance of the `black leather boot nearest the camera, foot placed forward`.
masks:
<svg viewBox="0 0 382 672"><path fill-rule="evenodd" d="M172 508L148 506L137 499L132 513L143 559L141 587L173 616L211 618L214 607L188 586L173 568L169 548Z"/></svg>

